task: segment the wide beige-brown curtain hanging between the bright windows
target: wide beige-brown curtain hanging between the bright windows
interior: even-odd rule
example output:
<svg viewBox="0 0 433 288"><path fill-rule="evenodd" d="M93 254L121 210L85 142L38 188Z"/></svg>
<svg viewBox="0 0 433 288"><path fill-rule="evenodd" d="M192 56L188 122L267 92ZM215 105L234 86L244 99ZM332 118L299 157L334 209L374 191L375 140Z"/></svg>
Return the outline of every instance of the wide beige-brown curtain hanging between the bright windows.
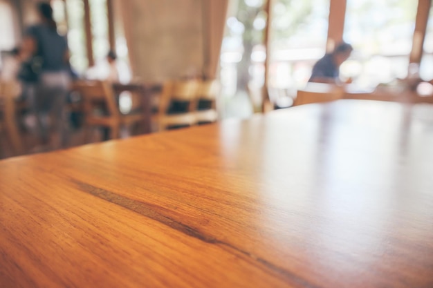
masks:
<svg viewBox="0 0 433 288"><path fill-rule="evenodd" d="M133 75L215 77L228 0L122 0Z"/></svg>

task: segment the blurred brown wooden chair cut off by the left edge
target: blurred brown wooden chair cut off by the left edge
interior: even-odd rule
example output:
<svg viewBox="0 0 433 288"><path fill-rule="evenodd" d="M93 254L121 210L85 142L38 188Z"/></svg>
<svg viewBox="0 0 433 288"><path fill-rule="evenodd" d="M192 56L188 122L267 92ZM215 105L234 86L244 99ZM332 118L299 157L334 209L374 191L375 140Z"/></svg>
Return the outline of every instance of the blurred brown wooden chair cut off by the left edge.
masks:
<svg viewBox="0 0 433 288"><path fill-rule="evenodd" d="M0 131L6 131L15 155L24 153L24 142L17 125L19 104L15 96L19 93L18 84L13 81L0 81Z"/></svg>

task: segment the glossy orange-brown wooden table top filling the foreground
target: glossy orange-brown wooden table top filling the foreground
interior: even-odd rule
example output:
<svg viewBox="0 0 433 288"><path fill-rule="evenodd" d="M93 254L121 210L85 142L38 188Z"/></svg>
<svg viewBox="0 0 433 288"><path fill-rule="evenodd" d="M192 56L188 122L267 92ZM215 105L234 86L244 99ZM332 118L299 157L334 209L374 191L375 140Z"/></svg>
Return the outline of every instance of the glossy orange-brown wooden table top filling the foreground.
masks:
<svg viewBox="0 0 433 288"><path fill-rule="evenodd" d="M0 287L433 287L433 106L340 100L0 161Z"/></svg>

